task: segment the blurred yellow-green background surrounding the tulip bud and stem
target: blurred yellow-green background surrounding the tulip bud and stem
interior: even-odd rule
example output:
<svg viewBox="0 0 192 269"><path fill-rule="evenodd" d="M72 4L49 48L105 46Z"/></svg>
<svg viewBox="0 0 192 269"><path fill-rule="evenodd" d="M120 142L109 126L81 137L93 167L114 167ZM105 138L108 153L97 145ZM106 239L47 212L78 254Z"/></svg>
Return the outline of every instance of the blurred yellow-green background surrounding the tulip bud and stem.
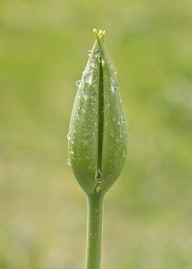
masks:
<svg viewBox="0 0 192 269"><path fill-rule="evenodd" d="M129 129L102 268L191 269L191 0L0 1L0 268L84 267L86 196L66 136L94 27Z"/></svg>

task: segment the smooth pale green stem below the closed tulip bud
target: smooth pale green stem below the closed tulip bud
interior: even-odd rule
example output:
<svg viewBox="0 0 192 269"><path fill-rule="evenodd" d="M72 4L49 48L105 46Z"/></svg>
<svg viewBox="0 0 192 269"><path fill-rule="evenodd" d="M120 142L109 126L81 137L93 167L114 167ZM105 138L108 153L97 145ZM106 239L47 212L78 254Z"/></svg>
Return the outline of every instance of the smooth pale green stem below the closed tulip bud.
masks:
<svg viewBox="0 0 192 269"><path fill-rule="evenodd" d="M88 222L86 235L86 267L100 269L103 225L103 194L88 195Z"/></svg>

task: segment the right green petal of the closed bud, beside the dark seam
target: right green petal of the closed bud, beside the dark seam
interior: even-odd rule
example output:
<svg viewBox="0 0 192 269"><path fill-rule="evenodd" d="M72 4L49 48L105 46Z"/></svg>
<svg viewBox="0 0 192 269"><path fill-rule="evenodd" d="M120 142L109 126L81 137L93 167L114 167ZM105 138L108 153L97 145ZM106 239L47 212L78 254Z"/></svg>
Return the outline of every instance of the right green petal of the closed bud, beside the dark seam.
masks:
<svg viewBox="0 0 192 269"><path fill-rule="evenodd" d="M103 182L101 187L107 191L117 180L127 155L127 126L116 70L103 41L96 33L101 51L102 72L104 78L104 134L101 173Z"/></svg>

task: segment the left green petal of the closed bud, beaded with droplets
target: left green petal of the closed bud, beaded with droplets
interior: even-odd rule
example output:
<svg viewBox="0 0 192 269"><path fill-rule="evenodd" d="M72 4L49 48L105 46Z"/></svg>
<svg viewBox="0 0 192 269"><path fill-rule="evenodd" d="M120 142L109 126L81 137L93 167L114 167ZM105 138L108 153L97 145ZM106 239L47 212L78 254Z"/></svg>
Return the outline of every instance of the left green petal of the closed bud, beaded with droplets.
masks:
<svg viewBox="0 0 192 269"><path fill-rule="evenodd" d="M75 178L86 193L95 189L98 151L99 49L93 46L80 86L69 127L69 158Z"/></svg>

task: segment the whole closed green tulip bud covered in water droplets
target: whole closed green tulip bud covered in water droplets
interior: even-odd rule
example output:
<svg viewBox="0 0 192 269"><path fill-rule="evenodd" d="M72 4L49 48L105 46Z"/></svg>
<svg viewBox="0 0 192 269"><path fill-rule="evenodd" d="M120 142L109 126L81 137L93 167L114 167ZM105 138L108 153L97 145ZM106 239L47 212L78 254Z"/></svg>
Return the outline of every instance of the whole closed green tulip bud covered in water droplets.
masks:
<svg viewBox="0 0 192 269"><path fill-rule="evenodd" d="M69 161L86 194L106 193L117 180L127 154L127 128L116 70L104 45L104 32L89 55L69 126Z"/></svg>

